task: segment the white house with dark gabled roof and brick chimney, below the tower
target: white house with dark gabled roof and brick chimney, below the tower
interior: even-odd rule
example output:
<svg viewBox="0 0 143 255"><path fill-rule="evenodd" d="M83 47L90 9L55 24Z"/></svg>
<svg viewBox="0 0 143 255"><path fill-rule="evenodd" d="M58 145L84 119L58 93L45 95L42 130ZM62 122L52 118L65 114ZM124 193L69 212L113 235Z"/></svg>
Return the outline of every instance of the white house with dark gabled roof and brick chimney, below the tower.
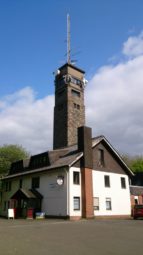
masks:
<svg viewBox="0 0 143 255"><path fill-rule="evenodd" d="M12 164L2 180L0 215L15 208L24 218L29 210L70 219L130 216L131 170L104 136L78 130L77 145Z"/></svg>

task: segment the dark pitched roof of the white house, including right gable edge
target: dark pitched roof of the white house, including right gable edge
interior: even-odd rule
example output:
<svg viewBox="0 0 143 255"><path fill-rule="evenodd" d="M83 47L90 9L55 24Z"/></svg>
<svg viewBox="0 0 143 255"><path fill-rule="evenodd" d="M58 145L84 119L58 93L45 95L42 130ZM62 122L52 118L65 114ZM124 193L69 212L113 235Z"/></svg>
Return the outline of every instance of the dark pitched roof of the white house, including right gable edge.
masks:
<svg viewBox="0 0 143 255"><path fill-rule="evenodd" d="M101 142L103 142L106 146L108 146L108 148L110 149L112 154L116 157L118 162L124 167L126 173L129 176L133 176L134 174L129 169L129 167L125 164L123 159L120 157L119 153L113 148L113 146L109 143L109 141L104 136L97 136L92 138L92 148L95 148ZM58 149L58 150L47 151L38 155L31 156L29 160L26 160L26 161L23 160L23 167L19 169L19 171L17 171L17 168L16 168L16 171L14 171L14 164L15 165L17 164L17 162L15 162L14 164L12 164L13 170L10 171L9 175L5 176L3 179L9 179L9 178L14 178L16 176L50 171L57 168L71 167L82 156L83 156L83 152L78 151L77 145L73 145L73 146L66 147L63 149ZM36 165L37 158L40 159L39 165ZM35 163L34 163L34 160L35 160Z"/></svg>

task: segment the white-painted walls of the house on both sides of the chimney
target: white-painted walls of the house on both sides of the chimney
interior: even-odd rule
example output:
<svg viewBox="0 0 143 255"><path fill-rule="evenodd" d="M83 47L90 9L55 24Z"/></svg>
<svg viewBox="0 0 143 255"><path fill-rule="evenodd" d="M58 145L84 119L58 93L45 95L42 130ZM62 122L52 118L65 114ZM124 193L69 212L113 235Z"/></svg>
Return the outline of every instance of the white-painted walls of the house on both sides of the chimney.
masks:
<svg viewBox="0 0 143 255"><path fill-rule="evenodd" d="M80 173L80 184L73 183L73 172ZM64 184L57 184L57 176L64 176ZM104 185L104 175L110 176L110 188ZM82 197L81 197L81 171L80 168L71 167L69 171L60 169L59 171L45 172L41 174L23 176L23 188L31 189L32 177L40 176L40 187L37 189L42 195L42 211L46 215L53 216L81 216ZM126 179L126 189L121 188L121 177ZM19 189L19 179L12 180L12 190L4 192L0 203L0 214L6 215L3 211L4 201ZM73 198L80 197L80 210L74 210ZM127 175L116 173L101 172L93 170L93 197L99 197L99 211L94 210L97 215L130 215L130 192ZM112 210L106 210L106 198L111 198Z"/></svg>

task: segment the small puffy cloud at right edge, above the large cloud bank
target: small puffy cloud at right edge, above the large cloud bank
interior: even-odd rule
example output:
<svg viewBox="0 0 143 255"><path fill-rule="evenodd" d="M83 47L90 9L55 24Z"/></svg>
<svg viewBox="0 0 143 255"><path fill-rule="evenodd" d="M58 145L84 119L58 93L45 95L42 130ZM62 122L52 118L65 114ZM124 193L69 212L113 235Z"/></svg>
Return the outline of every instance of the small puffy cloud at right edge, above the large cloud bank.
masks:
<svg viewBox="0 0 143 255"><path fill-rule="evenodd" d="M136 57L143 54L143 32L138 36L130 36L123 44L123 54L128 57Z"/></svg>

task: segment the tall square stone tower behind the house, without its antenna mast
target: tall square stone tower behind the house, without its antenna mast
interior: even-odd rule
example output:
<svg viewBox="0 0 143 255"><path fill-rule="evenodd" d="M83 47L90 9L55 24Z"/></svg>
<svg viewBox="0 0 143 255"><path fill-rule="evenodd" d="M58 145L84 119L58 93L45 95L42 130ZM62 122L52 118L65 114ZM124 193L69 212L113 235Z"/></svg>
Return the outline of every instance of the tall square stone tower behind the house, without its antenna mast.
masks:
<svg viewBox="0 0 143 255"><path fill-rule="evenodd" d="M84 74L71 63L55 74L54 149L76 144L77 128L85 125Z"/></svg>

